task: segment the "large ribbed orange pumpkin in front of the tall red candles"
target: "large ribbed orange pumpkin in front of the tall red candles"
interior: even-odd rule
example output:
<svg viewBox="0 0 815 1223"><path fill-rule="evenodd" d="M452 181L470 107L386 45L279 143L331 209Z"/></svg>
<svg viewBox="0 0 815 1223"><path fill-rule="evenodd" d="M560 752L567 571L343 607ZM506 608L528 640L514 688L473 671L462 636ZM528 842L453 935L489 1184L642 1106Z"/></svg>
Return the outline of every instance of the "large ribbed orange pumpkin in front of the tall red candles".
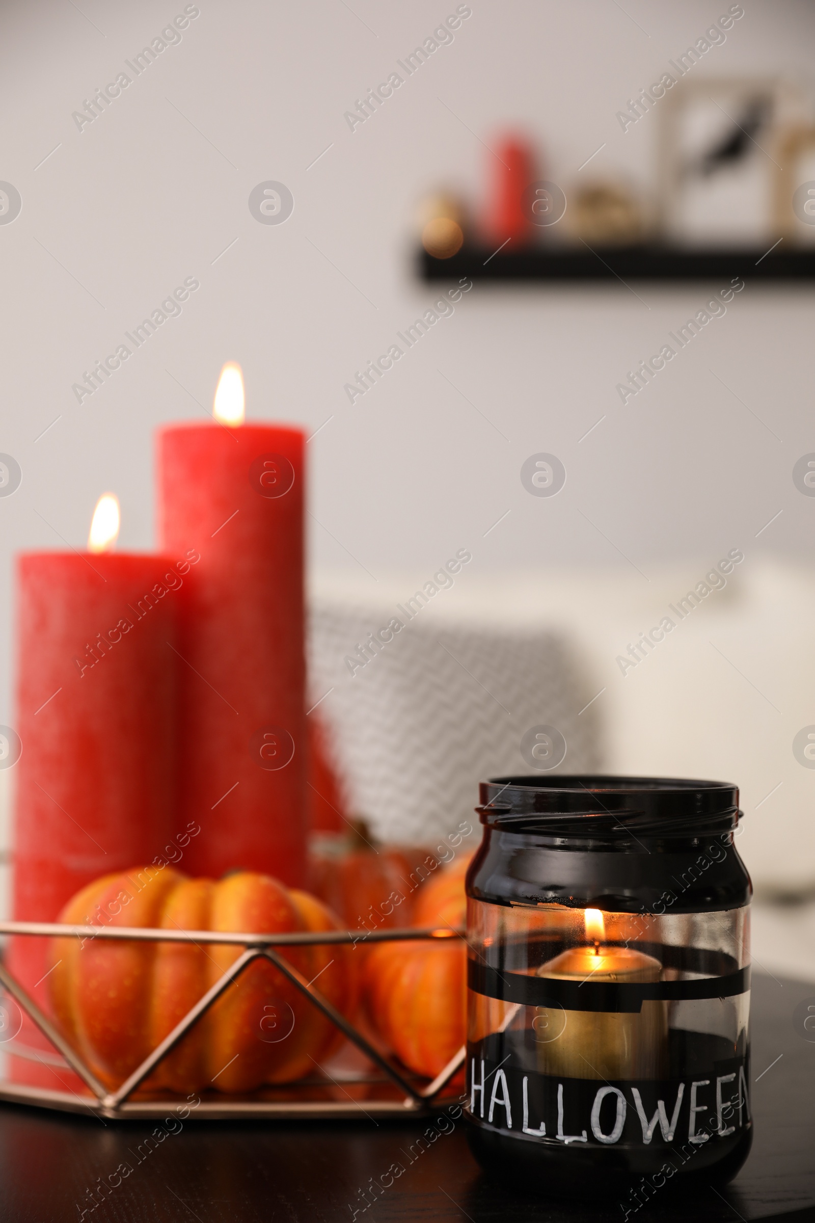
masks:
<svg viewBox="0 0 815 1223"><path fill-rule="evenodd" d="M336 929L319 900L249 871L189 879L171 867L109 874L68 901L61 922L258 933ZM119 1086L242 954L226 944L56 938L54 1013L73 1047ZM286 959L341 1011L356 1008L348 948L286 948ZM332 961L332 963L331 963ZM189 1093L290 1082L341 1041L334 1025L269 960L255 960L159 1064L150 1087Z"/></svg>

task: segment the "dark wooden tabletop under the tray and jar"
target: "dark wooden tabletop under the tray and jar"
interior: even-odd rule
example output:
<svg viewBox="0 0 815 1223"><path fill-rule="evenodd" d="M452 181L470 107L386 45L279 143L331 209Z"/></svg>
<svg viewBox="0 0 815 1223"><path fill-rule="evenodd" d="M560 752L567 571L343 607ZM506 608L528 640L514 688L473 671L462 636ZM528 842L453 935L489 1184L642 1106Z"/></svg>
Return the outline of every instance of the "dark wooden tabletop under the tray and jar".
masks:
<svg viewBox="0 0 815 1223"><path fill-rule="evenodd" d="M677 1200L666 1188L630 1219L815 1223L815 1042L805 1038L802 1026L800 1004L806 1000L815 1005L815 985L754 977L755 1142L733 1184L722 1194L711 1189L692 1202ZM547 1200L545 1185L533 1199L491 1183L469 1155L461 1121L442 1124L440 1129L448 1132L440 1134L424 1153L414 1150L409 1162L411 1145L426 1125L376 1125L362 1112L359 1121L335 1124L226 1124L189 1118L147 1153L144 1140L154 1124L101 1123L0 1106L0 1219L623 1221L618 1201L565 1206ZM133 1170L92 1210L88 1191L123 1162ZM370 1192L363 1196L365 1186L370 1189L371 1178L389 1181L387 1169L395 1162L406 1170L364 1208L371 1200Z"/></svg>

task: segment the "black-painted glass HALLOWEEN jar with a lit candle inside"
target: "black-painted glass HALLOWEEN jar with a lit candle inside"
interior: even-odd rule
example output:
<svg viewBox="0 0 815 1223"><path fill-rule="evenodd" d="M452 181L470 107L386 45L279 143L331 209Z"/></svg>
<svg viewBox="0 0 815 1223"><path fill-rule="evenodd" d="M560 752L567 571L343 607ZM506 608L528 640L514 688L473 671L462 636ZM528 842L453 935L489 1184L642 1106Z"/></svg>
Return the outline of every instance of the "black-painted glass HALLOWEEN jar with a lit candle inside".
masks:
<svg viewBox="0 0 815 1223"><path fill-rule="evenodd" d="M623 1211L666 1184L732 1178L751 1141L737 788L497 778L477 810L466 1107L477 1158L541 1192L619 1192Z"/></svg>

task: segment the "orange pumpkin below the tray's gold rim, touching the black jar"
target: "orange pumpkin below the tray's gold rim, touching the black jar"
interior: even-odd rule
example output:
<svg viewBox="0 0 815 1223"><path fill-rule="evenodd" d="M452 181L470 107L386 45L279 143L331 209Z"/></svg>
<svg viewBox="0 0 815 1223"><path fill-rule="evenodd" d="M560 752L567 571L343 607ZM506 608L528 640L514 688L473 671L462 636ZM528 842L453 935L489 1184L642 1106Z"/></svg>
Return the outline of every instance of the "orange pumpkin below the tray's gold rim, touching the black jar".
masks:
<svg viewBox="0 0 815 1223"><path fill-rule="evenodd" d="M365 963L370 1018L397 1057L435 1076L467 1038L467 947L461 938L380 943Z"/></svg>

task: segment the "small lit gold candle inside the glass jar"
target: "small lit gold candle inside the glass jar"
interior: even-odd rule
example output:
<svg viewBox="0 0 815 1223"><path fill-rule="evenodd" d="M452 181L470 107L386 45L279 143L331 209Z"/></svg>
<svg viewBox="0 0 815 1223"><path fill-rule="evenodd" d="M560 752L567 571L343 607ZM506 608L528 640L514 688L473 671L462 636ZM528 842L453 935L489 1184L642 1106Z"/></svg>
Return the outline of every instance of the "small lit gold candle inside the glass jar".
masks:
<svg viewBox="0 0 815 1223"><path fill-rule="evenodd" d="M659 981L662 966L651 955L630 947L606 944L599 909L585 910L587 942L572 947L538 970L538 976L561 981ZM639 1011L561 1010L536 1008L534 1026L546 1031L538 1046L543 1074L568 1079L652 1079L665 1069L667 1052L666 1004L643 1002ZM558 1036L551 1033L560 1032Z"/></svg>

